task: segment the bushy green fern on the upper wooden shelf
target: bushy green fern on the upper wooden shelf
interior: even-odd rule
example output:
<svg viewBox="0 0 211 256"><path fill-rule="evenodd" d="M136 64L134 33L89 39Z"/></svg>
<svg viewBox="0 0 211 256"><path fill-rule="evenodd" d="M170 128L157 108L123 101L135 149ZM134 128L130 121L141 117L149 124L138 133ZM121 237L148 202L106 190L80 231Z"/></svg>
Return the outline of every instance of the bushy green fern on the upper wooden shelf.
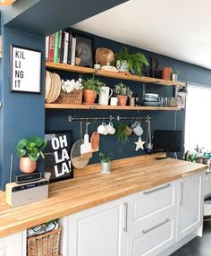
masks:
<svg viewBox="0 0 211 256"><path fill-rule="evenodd" d="M146 66L149 65L145 55L139 52L136 54L130 54L127 47L122 47L122 50L120 50L119 53L115 53L114 57L115 62L120 61L120 64L122 63L122 61L127 61L129 65L129 72L139 75L142 74L143 64L145 64Z"/></svg>

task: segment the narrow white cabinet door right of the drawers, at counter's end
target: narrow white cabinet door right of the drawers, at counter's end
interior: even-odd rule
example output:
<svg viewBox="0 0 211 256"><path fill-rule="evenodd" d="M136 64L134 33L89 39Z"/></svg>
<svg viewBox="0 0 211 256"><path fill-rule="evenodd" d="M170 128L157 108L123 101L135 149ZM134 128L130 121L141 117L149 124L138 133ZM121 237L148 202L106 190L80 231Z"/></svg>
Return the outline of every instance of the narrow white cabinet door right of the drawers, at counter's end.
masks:
<svg viewBox="0 0 211 256"><path fill-rule="evenodd" d="M204 173L181 179L179 189L177 241L202 225Z"/></svg>

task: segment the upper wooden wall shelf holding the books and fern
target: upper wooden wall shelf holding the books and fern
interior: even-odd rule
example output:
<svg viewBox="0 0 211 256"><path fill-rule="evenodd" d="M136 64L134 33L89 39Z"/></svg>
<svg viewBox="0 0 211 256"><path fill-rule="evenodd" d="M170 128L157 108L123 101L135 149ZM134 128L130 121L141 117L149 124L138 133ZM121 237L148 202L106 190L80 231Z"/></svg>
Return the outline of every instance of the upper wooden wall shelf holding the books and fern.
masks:
<svg viewBox="0 0 211 256"><path fill-rule="evenodd" d="M158 85L166 85L166 86L185 86L185 82L181 81L168 81L163 79L157 79L153 77L147 76L139 76L131 73L119 73L119 72L111 72L104 70L95 70L89 67L76 66L71 64L55 64L46 62L46 68L64 70L73 73L93 73L98 76L110 77L115 79L127 80L127 81L139 81L146 83L156 83Z"/></svg>

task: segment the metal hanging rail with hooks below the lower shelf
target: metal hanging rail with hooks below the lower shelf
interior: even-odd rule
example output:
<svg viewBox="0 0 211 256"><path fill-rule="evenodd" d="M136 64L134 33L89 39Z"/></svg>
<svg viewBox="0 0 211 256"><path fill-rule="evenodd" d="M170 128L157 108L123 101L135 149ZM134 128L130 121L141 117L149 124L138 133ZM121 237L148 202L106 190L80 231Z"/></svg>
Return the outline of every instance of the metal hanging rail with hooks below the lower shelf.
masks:
<svg viewBox="0 0 211 256"><path fill-rule="evenodd" d="M146 121L150 121L151 116L149 116L149 115L147 115L147 116L120 116L120 115L117 115L116 117L114 117L113 115L109 115L109 116L106 116L106 117L72 117L72 115L69 115L68 116L68 121L69 122L72 122L72 121L80 121L80 122L95 121L95 122L97 122L98 120L102 120L102 121L108 120L108 121L111 122L115 118L116 118L117 121L120 121L120 120L146 120Z"/></svg>

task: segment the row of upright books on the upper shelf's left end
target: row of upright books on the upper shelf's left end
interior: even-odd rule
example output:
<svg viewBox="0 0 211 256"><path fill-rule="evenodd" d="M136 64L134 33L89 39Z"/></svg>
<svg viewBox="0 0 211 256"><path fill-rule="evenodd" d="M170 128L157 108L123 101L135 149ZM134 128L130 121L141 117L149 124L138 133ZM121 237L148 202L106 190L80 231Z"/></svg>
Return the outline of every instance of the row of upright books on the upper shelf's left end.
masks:
<svg viewBox="0 0 211 256"><path fill-rule="evenodd" d="M60 30L46 37L46 61L75 64L76 38L67 30Z"/></svg>

